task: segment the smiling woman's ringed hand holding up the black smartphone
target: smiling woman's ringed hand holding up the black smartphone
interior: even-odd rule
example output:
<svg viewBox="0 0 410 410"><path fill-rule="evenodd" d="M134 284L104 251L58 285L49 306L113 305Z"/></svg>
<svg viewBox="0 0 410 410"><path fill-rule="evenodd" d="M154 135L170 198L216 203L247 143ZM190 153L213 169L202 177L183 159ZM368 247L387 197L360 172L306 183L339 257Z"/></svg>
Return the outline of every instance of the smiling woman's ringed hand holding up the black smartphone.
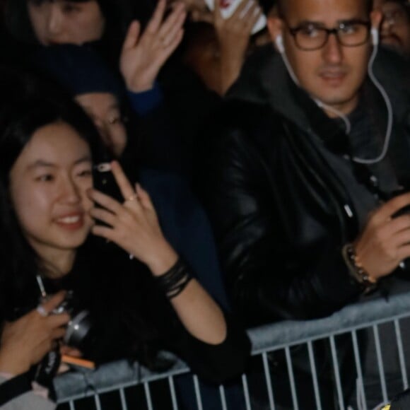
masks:
<svg viewBox="0 0 410 410"><path fill-rule="evenodd" d="M177 261L158 223L156 210L146 191L132 187L119 163L112 163L112 173L124 197L120 204L93 189L90 197L102 208L93 208L91 216L109 226L93 226L93 234L115 242L119 247L144 262L154 275L163 274Z"/></svg>

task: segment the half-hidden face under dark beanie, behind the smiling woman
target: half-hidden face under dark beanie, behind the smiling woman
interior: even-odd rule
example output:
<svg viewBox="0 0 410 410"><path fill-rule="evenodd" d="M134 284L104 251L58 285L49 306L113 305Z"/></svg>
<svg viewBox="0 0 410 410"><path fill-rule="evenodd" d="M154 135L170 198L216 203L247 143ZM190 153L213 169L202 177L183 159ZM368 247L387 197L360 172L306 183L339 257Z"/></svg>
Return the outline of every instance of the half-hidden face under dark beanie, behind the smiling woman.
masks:
<svg viewBox="0 0 410 410"><path fill-rule="evenodd" d="M119 158L127 145L127 131L122 122L119 104L110 93L87 93L76 95L78 102L93 120L102 142Z"/></svg>

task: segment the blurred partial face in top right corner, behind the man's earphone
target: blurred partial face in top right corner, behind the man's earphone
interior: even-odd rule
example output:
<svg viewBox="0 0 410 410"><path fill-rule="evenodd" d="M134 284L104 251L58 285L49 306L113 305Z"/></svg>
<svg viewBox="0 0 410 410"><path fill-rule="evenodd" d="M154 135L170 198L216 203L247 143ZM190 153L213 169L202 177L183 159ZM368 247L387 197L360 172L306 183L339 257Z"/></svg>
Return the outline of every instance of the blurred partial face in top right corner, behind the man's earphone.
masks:
<svg viewBox="0 0 410 410"><path fill-rule="evenodd" d="M410 56L409 10L400 1L375 0L374 7L383 14L380 28L382 44Z"/></svg>

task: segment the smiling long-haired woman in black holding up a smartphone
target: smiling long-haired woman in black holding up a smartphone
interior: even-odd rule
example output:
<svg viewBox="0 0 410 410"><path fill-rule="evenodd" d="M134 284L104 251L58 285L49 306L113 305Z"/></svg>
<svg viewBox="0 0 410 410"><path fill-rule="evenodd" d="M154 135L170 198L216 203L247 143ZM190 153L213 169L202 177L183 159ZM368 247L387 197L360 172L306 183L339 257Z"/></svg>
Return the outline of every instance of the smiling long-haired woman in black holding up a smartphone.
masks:
<svg viewBox="0 0 410 410"><path fill-rule="evenodd" d="M70 291L91 318L94 336L74 346L84 358L131 358L158 368L156 353L168 349L205 380L238 375L249 341L165 240L148 194L130 184L118 163L112 172L123 201L93 189L96 141L88 118L68 102L19 100L2 110L0 229L8 240L0 250L1 323L46 320L52 309L41 295ZM133 259L98 252L95 236ZM66 313L60 315L50 336L58 344L66 336ZM32 340L30 329L21 330L25 339ZM19 350L30 343L20 346L17 334L9 334L8 357L29 357ZM25 360L0 371L25 373L34 364Z"/></svg>

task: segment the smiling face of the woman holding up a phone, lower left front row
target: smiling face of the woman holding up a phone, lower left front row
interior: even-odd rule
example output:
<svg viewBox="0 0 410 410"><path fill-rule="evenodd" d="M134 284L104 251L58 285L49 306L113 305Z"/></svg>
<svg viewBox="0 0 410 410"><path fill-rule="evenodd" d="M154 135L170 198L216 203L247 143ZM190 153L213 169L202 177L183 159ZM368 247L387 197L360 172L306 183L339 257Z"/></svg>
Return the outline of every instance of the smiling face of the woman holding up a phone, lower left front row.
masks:
<svg viewBox="0 0 410 410"><path fill-rule="evenodd" d="M11 204L23 234L47 260L75 251L93 224L90 148L69 124L55 122L35 131L11 168Z"/></svg>

